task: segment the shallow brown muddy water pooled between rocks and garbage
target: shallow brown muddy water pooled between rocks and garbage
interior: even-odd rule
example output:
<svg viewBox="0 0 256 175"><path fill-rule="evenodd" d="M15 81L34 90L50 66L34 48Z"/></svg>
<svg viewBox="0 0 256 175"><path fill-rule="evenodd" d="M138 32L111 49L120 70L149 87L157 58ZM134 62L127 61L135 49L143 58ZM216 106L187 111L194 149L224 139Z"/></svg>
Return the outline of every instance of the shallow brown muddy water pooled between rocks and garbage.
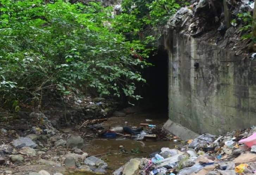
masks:
<svg viewBox="0 0 256 175"><path fill-rule="evenodd" d="M150 119L152 121L146 121ZM143 113L137 115L130 115L125 117L112 117L106 123L105 127L114 126L136 126L139 127L140 123L156 124L162 127L164 122L167 121L166 114L156 113ZM159 151L162 147L174 148L175 144L172 141L135 141L131 139L95 139L87 142L83 148L84 152L90 155L95 155L108 163L108 172L112 173L115 169L119 168L131 158L135 157L149 157L149 154ZM120 152L119 146L124 146L126 153ZM131 149L140 148L142 153L131 154ZM111 153L109 153L111 152ZM107 153L107 154L105 154Z"/></svg>

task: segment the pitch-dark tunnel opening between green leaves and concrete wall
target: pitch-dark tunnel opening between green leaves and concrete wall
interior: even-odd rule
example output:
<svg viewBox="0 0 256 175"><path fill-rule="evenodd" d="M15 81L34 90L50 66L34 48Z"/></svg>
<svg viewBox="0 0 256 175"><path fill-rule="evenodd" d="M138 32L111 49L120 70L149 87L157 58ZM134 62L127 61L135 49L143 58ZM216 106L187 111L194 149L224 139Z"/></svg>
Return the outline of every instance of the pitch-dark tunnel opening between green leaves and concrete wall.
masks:
<svg viewBox="0 0 256 175"><path fill-rule="evenodd" d="M146 85L143 85L141 104L149 107L152 112L166 113L168 116L168 53L164 48L153 52L148 61L154 66L148 67L143 72Z"/></svg>

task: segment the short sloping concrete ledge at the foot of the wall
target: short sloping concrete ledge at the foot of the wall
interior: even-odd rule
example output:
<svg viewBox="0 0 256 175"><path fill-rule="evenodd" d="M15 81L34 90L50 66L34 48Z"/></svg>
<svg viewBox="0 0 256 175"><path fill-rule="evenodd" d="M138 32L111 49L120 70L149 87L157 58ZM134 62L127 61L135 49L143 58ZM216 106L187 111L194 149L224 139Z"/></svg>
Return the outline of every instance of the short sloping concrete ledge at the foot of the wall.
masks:
<svg viewBox="0 0 256 175"><path fill-rule="evenodd" d="M164 123L163 128L168 130L171 134L179 137L182 140L195 139L196 137L199 136L199 134L196 134L192 130L185 128L180 124L171 121L170 119L167 120L166 123Z"/></svg>

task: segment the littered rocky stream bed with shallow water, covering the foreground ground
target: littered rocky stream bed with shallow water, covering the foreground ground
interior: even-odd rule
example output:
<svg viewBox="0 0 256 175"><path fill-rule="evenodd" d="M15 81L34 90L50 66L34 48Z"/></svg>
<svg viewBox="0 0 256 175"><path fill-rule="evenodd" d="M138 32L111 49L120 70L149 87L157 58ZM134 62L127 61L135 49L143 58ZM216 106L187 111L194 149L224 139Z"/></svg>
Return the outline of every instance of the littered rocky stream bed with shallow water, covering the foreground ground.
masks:
<svg viewBox="0 0 256 175"><path fill-rule="evenodd" d="M127 108L107 117L106 111L112 109L103 100L85 106L78 101L73 112L66 111L66 117L58 113L62 118L57 119L47 110L46 115L24 112L20 116L2 117L0 175L251 175L256 172L255 146L241 142L251 135L254 137L254 127L222 136L202 134L183 141L162 128L166 114ZM77 109L83 111L80 120ZM116 126L144 128L134 136L120 134L106 139L100 134ZM145 139L146 134L156 137Z"/></svg>

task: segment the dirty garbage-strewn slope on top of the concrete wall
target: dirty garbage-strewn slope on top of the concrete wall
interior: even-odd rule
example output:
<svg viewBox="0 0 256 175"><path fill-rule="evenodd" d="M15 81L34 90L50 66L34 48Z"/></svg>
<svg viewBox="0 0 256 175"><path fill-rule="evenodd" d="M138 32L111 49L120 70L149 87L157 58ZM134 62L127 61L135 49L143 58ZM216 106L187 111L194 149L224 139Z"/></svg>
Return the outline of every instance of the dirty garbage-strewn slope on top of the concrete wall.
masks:
<svg viewBox="0 0 256 175"><path fill-rule="evenodd" d="M250 0L227 0L227 8L230 17L230 27L224 22L224 6L223 1L216 0L196 0L187 7L180 8L172 15L167 23L169 31L180 31L182 34L193 37L202 37L205 40L214 41L221 48L230 45L232 49L234 45L238 47L243 45L241 36L250 33L248 30L240 30L241 27L248 25L243 20L243 14L251 15L253 13L254 1ZM227 41L227 38L229 40ZM225 42L220 42L226 39ZM232 46L232 47L231 47ZM243 45L244 47L244 45ZM241 47L241 49L243 48Z"/></svg>

